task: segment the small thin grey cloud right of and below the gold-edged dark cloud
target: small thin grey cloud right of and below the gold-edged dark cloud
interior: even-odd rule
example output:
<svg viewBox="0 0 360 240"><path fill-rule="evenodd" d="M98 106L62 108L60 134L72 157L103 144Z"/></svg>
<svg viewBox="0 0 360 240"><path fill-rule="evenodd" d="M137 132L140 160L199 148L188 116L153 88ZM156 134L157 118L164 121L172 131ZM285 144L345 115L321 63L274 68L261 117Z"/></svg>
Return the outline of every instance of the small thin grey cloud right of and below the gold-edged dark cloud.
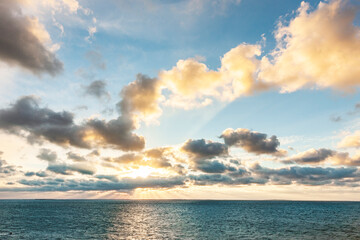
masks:
<svg viewBox="0 0 360 240"><path fill-rule="evenodd" d="M283 163L298 163L298 164L314 164L321 163L327 160L329 157L336 155L337 152L326 149L309 149L305 152L299 153L291 158L285 159Z"/></svg>

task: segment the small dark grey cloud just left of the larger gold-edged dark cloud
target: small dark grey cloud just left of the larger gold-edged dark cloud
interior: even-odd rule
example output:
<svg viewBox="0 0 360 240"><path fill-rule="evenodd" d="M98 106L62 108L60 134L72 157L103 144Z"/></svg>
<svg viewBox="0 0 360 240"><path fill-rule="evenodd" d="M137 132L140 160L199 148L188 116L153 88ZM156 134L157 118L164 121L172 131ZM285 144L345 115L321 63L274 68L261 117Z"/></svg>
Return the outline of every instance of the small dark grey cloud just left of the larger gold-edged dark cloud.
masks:
<svg viewBox="0 0 360 240"><path fill-rule="evenodd" d="M195 158L212 158L228 154L228 147L225 144L205 141L205 139L189 139L182 146L182 150Z"/></svg>

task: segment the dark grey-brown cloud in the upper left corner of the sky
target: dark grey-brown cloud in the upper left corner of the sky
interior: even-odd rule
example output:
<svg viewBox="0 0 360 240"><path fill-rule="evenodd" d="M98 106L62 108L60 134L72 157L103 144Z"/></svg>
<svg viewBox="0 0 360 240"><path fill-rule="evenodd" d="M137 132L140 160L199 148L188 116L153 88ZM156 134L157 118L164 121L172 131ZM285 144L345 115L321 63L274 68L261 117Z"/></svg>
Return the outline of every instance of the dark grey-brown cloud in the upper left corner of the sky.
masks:
<svg viewBox="0 0 360 240"><path fill-rule="evenodd" d="M24 16L17 0L0 1L0 59L34 74L56 75L63 64L32 31L36 20Z"/></svg>

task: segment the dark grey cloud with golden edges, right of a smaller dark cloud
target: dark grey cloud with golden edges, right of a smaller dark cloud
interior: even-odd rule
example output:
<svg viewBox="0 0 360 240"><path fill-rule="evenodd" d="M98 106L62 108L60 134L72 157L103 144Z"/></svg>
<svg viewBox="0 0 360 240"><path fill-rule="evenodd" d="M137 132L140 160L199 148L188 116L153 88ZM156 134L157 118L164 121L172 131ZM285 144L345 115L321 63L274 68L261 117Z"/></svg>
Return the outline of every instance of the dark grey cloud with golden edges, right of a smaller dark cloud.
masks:
<svg viewBox="0 0 360 240"><path fill-rule="evenodd" d="M255 154L274 154L282 156L286 154L285 150L279 150L280 142L273 135L267 138L265 133L253 132L245 128L226 129L220 136L228 146L238 146L246 151Z"/></svg>

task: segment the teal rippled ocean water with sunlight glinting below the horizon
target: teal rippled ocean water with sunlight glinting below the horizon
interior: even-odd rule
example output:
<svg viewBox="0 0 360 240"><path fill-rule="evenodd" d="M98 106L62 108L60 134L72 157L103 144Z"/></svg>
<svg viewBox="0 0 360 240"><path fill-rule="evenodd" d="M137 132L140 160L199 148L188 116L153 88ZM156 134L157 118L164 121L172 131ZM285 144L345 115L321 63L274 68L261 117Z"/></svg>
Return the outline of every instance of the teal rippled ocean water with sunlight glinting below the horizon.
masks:
<svg viewBox="0 0 360 240"><path fill-rule="evenodd" d="M360 239L360 202L0 200L0 239Z"/></svg>

